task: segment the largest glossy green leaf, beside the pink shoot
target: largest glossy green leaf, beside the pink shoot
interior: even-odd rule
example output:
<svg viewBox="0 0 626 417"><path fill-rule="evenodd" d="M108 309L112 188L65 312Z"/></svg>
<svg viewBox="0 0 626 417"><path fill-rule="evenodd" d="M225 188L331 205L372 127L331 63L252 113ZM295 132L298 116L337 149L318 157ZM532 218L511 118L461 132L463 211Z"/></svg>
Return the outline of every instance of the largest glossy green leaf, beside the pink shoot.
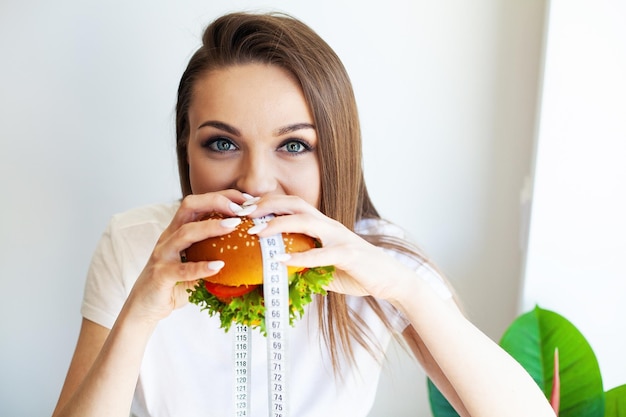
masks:
<svg viewBox="0 0 626 417"><path fill-rule="evenodd" d="M604 417L598 361L587 340L567 319L535 307L509 326L500 345L528 371L547 398L552 390L554 349L558 347L559 417Z"/></svg>

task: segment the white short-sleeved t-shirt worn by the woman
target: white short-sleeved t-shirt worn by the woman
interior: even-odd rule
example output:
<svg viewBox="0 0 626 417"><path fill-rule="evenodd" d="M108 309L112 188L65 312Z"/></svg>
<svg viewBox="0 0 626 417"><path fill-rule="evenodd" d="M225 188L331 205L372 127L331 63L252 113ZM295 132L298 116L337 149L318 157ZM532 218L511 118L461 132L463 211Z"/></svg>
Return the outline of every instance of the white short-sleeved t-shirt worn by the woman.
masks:
<svg viewBox="0 0 626 417"><path fill-rule="evenodd" d="M82 315L111 328L135 280L170 223L178 203L152 205L114 216L94 253L87 276ZM386 225L386 224L385 224ZM382 222L365 221L362 232L387 232ZM391 334L360 297L348 297L385 349ZM395 330L405 318L381 302ZM356 367L342 363L335 375L318 326L317 304L289 329L289 411L293 416L366 416L372 406L381 371L373 358L354 344ZM252 416L268 415L266 340L252 337ZM194 304L163 319L150 338L132 405L137 417L225 417L232 409L232 335Z"/></svg>

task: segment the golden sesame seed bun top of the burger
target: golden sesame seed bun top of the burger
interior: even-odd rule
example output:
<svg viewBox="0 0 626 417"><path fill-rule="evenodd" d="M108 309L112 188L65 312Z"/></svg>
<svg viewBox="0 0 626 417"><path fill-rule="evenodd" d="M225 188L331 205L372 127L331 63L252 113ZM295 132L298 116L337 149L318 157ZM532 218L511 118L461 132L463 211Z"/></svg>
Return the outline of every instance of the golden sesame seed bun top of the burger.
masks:
<svg viewBox="0 0 626 417"><path fill-rule="evenodd" d="M224 218L219 213L213 213L205 219ZM261 245L256 235L248 233L254 226L249 217L242 217L241 223L232 232L194 243L185 250L188 261L224 261L224 267L219 273L204 278L215 284L239 286L258 285L263 283L263 257ZM315 239L299 233L283 233L285 252L302 252L316 247ZM299 268L289 268L289 274Z"/></svg>

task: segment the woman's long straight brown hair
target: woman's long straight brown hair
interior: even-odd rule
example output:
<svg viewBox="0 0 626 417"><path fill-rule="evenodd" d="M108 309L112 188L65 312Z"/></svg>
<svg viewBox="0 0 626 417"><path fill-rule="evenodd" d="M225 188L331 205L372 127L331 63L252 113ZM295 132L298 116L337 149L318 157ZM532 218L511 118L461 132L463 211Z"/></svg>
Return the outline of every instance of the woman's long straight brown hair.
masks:
<svg viewBox="0 0 626 417"><path fill-rule="evenodd" d="M178 89L176 150L183 195L192 193L187 143L195 82L209 71L247 63L280 66L302 88L319 138L320 211L351 230L360 219L379 218L363 179L359 117L348 74L322 38L284 14L228 14L204 32L202 46L190 59ZM353 360L354 341L378 353L371 348L374 341L367 324L350 310L344 295L329 293L318 302L319 323L335 367L338 349ZM368 297L368 303L388 325L376 300Z"/></svg>

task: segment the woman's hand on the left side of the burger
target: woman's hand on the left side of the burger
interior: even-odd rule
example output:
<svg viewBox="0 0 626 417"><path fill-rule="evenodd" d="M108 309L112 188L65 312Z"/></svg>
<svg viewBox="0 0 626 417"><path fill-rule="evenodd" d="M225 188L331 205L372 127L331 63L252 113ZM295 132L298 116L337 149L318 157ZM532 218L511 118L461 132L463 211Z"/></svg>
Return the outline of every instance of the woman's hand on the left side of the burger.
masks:
<svg viewBox="0 0 626 417"><path fill-rule="evenodd" d="M235 190L185 197L131 290L125 305L128 312L147 322L157 322L185 305L187 289L193 288L197 280L218 273L224 263L219 259L182 262L181 252L195 242L232 231L238 224L237 215L254 209L242 212L245 201L246 196ZM229 217L198 221L210 212Z"/></svg>

